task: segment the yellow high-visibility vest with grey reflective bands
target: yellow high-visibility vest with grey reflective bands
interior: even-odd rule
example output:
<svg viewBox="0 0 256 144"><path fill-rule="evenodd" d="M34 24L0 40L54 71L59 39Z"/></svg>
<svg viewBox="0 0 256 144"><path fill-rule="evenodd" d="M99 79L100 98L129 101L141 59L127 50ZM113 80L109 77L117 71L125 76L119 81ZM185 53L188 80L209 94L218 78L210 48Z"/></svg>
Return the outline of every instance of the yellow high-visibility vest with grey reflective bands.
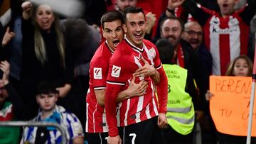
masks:
<svg viewBox="0 0 256 144"><path fill-rule="evenodd" d="M191 96L185 92L188 72L178 65L163 65L168 78L166 117L171 128L182 135L193 130L195 111Z"/></svg>

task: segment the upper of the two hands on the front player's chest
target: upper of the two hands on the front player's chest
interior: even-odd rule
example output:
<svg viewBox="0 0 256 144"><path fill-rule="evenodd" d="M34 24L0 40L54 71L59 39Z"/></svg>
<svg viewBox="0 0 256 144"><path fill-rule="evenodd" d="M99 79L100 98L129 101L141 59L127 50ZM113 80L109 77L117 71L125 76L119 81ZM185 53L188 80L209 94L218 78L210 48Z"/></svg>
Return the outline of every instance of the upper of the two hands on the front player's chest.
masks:
<svg viewBox="0 0 256 144"><path fill-rule="evenodd" d="M142 57L142 62L144 62L143 67L139 67L134 73L135 77L151 77L156 74L156 69L149 65L149 62L147 62L144 57Z"/></svg>

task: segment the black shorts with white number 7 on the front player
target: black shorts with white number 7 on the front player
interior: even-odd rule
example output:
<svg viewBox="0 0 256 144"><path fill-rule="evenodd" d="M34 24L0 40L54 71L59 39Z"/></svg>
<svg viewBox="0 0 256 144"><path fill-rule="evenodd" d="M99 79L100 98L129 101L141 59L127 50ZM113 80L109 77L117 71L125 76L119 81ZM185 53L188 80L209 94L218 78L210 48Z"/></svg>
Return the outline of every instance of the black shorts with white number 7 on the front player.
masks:
<svg viewBox="0 0 256 144"><path fill-rule="evenodd" d="M134 144L143 143L151 144L154 141L154 131L157 127L157 116L146 121L134 123L129 126L119 128L119 136L122 143Z"/></svg>

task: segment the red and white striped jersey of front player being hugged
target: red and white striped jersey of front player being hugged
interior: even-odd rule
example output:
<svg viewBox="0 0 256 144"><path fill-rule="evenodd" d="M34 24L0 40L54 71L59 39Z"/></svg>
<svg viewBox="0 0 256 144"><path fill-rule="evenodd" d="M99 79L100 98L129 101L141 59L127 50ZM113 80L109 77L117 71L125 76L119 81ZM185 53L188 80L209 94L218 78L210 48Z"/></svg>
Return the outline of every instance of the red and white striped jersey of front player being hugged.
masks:
<svg viewBox="0 0 256 144"><path fill-rule="evenodd" d="M139 83L142 79L149 82L149 87L146 89L144 96L134 96L126 99L119 103L118 106L115 104L118 92L127 89L131 82L132 74L144 65L142 57L150 65L154 66L156 70L161 68L159 52L155 45L148 40L143 41L142 48L137 48L127 38L124 38L110 58L110 69L105 92L105 106L110 136L117 134L117 126L139 123L159 114L154 84L150 77L141 76L135 80L136 83ZM116 107L118 107L117 112Z"/></svg>

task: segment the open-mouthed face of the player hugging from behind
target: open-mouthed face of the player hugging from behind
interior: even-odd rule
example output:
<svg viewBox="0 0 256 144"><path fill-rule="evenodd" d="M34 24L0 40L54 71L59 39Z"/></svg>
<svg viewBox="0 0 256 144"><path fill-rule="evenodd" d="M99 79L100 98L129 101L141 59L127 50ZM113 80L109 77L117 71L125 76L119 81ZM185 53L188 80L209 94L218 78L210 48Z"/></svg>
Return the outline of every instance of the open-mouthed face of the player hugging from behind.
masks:
<svg viewBox="0 0 256 144"><path fill-rule="evenodd" d="M124 29L120 20L105 22L103 29L103 37L106 38L107 44L112 50L124 39Z"/></svg>

